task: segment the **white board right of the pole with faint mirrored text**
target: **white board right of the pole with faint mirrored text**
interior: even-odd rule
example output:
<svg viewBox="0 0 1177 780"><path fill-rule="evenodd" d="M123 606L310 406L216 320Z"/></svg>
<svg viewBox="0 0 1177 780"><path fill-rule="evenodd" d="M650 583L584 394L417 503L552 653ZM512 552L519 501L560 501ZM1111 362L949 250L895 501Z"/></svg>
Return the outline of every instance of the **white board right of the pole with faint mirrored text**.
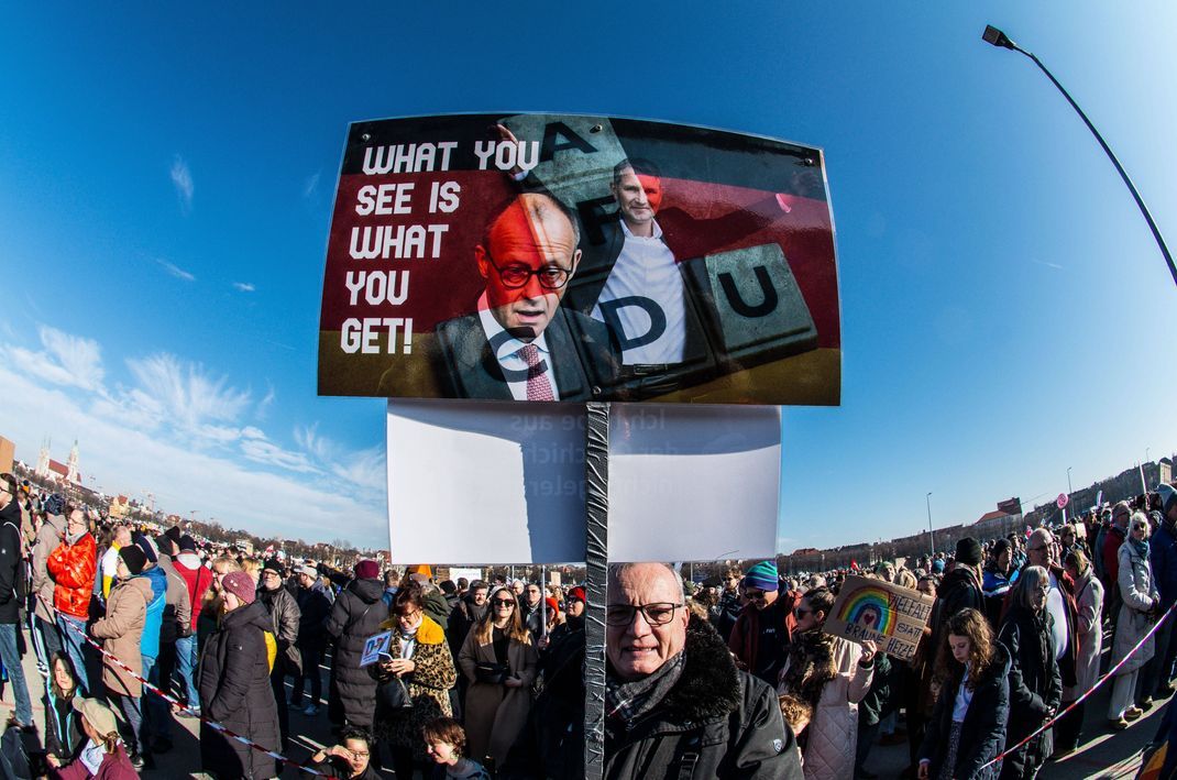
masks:
<svg viewBox="0 0 1177 780"><path fill-rule="evenodd" d="M609 560L772 558L780 408L613 404Z"/></svg>

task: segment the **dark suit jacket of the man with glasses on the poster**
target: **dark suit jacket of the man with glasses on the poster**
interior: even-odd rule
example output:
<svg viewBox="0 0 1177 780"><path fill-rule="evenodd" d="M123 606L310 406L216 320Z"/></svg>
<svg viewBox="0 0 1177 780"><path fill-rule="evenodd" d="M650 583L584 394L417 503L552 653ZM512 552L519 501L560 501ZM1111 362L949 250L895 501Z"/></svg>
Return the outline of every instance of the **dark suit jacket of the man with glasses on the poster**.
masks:
<svg viewBox="0 0 1177 780"><path fill-rule="evenodd" d="M568 327L570 321L574 328ZM440 322L437 334L437 371L447 396L511 400L511 388L477 313ZM544 339L561 401L600 399L617 382L621 353L609 328L597 320L557 308Z"/></svg>

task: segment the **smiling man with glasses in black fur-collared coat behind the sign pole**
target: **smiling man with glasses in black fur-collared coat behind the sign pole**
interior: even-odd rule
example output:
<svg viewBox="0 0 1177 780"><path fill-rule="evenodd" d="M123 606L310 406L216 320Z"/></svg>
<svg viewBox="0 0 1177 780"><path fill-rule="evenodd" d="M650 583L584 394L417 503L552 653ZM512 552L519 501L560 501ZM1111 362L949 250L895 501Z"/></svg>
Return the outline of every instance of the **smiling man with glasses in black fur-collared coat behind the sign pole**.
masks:
<svg viewBox="0 0 1177 780"><path fill-rule="evenodd" d="M736 668L664 564L609 572L605 775L803 776L776 692Z"/></svg>

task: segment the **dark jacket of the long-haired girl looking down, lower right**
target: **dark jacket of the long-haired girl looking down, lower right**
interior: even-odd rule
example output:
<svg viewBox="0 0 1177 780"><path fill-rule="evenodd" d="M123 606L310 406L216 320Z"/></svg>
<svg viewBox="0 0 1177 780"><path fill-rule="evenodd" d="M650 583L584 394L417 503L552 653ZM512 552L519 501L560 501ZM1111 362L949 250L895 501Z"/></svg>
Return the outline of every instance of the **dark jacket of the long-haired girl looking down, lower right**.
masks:
<svg viewBox="0 0 1177 780"><path fill-rule="evenodd" d="M1005 720L1010 714L1010 653L1000 642L993 644L993 664L984 680L978 681L972 692L972 701L965 713L957 746L957 760L951 776L957 780L982 780L996 778L1000 766L982 767L997 758L1005 748ZM952 709L956 706L956 685L940 687L936 708L927 720L924 742L919 748L920 759L930 759L929 776L940 776L949 734L952 733Z"/></svg>

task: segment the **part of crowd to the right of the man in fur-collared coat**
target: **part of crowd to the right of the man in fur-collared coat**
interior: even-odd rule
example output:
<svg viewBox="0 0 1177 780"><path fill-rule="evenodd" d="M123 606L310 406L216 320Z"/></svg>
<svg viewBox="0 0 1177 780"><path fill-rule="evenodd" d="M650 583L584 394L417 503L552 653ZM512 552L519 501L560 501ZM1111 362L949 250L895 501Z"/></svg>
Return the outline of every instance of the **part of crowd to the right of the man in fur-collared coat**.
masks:
<svg viewBox="0 0 1177 780"><path fill-rule="evenodd" d="M935 596L913 656L822 629L850 574ZM913 561L798 578L778 576L771 561L730 568L703 584L692 608L742 669L777 687L806 778L869 780L872 748L903 742L904 776L1032 778L1079 748L1085 694L1102 673L1113 674L1110 732L1172 694L1172 619L1157 624L1175 601L1177 491L1162 485L1052 528L965 538ZM1153 745L1170 739L1159 776L1177 771L1177 715Z"/></svg>

